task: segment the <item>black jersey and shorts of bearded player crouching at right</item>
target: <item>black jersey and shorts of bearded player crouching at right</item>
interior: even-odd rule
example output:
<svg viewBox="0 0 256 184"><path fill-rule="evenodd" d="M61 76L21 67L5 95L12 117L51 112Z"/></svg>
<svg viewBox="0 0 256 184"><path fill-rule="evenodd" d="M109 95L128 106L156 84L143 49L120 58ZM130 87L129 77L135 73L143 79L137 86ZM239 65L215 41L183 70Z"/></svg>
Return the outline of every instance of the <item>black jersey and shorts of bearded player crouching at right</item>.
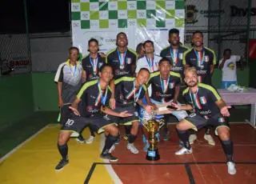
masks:
<svg viewBox="0 0 256 184"><path fill-rule="evenodd" d="M212 125L216 128L229 126L215 103L222 98L214 87L198 83L198 91L195 94L186 88L183 91L183 96L194 109L194 113L190 114L186 121L191 122L197 129L206 125ZM215 130L215 134L216 132Z"/></svg>

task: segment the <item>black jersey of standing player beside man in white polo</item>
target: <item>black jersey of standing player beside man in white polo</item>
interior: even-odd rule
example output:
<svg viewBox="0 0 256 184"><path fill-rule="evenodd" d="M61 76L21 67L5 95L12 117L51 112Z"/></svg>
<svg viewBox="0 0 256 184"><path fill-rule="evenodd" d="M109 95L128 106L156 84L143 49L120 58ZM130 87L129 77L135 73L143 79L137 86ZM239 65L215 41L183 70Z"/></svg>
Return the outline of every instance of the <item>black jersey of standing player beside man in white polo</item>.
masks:
<svg viewBox="0 0 256 184"><path fill-rule="evenodd" d="M98 58L90 58L90 54L82 59L82 69L86 71L86 81L98 79L98 71L105 64L106 58L98 54Z"/></svg>

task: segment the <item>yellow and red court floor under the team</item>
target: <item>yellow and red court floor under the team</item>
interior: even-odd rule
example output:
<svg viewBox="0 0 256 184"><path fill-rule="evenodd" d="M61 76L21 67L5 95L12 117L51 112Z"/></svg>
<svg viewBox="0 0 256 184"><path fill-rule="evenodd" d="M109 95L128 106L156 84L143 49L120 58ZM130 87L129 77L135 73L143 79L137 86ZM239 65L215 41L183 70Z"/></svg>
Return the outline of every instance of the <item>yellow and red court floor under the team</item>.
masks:
<svg viewBox="0 0 256 184"><path fill-rule="evenodd" d="M47 125L2 157L0 183L256 183L256 131L246 123L231 124L238 170L234 176L227 173L226 158L218 138L214 136L216 146L209 146L202 138L204 130L199 132L198 141L192 146L193 154L175 156L178 136L174 125L170 125L170 140L158 142L161 158L156 162L146 160L141 135L135 142L139 154L130 154L122 138L113 152L118 162L105 162L99 158L105 138L101 134L90 145L71 138L70 162L56 172L54 166L60 159L59 129L57 124ZM83 135L88 137L89 130L84 130Z"/></svg>

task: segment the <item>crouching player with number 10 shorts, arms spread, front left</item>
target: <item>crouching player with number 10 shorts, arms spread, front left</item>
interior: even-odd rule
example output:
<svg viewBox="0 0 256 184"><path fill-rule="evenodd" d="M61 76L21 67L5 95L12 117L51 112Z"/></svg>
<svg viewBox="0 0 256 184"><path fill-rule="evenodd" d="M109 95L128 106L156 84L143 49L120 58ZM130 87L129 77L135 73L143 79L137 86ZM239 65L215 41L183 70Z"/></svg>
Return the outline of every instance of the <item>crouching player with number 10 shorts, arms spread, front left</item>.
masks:
<svg viewBox="0 0 256 184"><path fill-rule="evenodd" d="M118 161L118 158L109 153L110 147L118 139L118 128L114 126L113 118L109 118L102 113L122 118L129 117L132 114L127 114L126 112L117 113L107 107L111 96L109 82L113 78L111 66L102 66L98 75L98 80L84 83L72 105L70 107L66 106L65 114L62 118L62 130L58 134L58 151L62 155L62 159L55 167L55 170L61 170L69 162L67 158L67 142L70 134L72 132L78 134L89 124L94 127L98 134L103 131L106 132L106 143L103 147L101 158L112 162Z"/></svg>

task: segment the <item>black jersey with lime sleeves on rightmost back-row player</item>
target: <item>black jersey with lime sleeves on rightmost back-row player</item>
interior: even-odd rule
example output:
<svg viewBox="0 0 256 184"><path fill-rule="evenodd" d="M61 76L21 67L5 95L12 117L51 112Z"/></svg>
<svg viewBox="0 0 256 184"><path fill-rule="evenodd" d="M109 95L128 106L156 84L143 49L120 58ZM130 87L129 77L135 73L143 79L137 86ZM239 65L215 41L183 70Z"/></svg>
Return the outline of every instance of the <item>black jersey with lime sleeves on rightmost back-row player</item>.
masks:
<svg viewBox="0 0 256 184"><path fill-rule="evenodd" d="M198 82L211 85L210 66L216 65L214 50L203 47L201 52L191 48L183 54L183 65L194 66L198 73Z"/></svg>

